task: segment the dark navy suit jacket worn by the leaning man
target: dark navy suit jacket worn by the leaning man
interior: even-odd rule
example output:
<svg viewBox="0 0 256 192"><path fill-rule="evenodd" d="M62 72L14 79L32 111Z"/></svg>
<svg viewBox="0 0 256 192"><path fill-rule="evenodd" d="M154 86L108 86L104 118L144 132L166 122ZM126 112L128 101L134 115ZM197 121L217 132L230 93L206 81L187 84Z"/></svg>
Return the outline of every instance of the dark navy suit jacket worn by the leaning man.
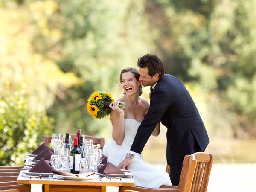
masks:
<svg viewBox="0 0 256 192"><path fill-rule="evenodd" d="M207 131L198 110L183 83L165 74L157 81L150 96L150 107L138 128L131 151L141 153L157 123L166 126L167 163L183 163L186 154L198 151L195 142L204 151L209 143Z"/></svg>

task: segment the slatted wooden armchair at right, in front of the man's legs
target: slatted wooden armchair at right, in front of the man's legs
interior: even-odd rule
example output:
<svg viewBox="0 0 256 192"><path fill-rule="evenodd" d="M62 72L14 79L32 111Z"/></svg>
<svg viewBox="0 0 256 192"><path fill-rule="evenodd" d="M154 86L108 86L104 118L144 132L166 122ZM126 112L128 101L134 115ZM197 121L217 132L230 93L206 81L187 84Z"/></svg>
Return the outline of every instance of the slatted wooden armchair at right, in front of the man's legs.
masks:
<svg viewBox="0 0 256 192"><path fill-rule="evenodd" d="M161 189L136 186L122 187L121 192L206 192L212 162L212 154L198 152L186 155L183 161L179 186Z"/></svg>

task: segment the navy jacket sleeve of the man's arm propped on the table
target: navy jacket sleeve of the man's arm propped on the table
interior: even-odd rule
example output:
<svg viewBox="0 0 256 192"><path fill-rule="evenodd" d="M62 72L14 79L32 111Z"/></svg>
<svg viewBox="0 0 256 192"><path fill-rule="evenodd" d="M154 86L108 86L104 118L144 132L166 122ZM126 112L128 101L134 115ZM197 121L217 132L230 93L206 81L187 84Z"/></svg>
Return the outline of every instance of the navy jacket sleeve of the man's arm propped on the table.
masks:
<svg viewBox="0 0 256 192"><path fill-rule="evenodd" d="M148 138L157 126L157 123L162 119L163 114L166 112L170 105L168 95L162 90L153 90L150 97L150 107L148 113L145 115L144 120L141 122L137 130L137 134L131 145L131 151L141 153Z"/></svg>

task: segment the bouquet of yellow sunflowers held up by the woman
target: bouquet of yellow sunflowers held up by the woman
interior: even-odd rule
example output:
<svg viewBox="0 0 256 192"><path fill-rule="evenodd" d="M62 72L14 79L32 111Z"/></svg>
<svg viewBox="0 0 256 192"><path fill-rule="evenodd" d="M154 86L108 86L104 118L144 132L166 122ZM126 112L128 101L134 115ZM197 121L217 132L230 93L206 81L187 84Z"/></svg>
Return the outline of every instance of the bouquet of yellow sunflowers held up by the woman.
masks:
<svg viewBox="0 0 256 192"><path fill-rule="evenodd" d="M101 119L110 114L111 108L109 105L114 102L112 96L107 92L96 92L87 100L87 111L96 119ZM121 102L119 108L124 108L125 103Z"/></svg>

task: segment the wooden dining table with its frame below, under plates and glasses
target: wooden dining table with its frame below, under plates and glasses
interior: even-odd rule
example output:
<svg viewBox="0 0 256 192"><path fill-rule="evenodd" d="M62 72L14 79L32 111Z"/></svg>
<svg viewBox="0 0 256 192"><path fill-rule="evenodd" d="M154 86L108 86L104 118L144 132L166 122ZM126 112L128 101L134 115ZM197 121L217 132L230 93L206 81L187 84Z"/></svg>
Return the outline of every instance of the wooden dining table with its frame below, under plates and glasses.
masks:
<svg viewBox="0 0 256 192"><path fill-rule="evenodd" d="M42 184L44 192L106 192L106 186L134 186L132 177L122 179L93 178L92 180L49 179L47 177L23 177L20 173L18 184Z"/></svg>

